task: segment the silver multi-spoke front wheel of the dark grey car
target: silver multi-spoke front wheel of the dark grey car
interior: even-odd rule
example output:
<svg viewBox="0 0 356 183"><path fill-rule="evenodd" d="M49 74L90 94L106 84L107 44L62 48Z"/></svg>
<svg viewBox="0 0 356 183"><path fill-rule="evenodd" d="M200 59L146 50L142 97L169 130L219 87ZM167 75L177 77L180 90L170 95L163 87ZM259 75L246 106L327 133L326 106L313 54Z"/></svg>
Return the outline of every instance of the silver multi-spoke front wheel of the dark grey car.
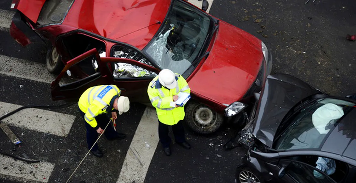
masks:
<svg viewBox="0 0 356 183"><path fill-rule="evenodd" d="M262 177L250 168L241 167L237 171L235 181L237 183L263 183Z"/></svg>

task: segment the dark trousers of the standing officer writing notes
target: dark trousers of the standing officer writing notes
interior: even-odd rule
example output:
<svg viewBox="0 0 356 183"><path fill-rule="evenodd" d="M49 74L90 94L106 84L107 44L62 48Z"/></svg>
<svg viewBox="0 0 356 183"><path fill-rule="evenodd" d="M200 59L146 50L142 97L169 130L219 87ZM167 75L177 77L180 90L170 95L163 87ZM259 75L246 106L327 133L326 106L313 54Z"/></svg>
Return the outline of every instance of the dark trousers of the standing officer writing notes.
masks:
<svg viewBox="0 0 356 183"><path fill-rule="evenodd" d="M158 137L159 137L159 141L161 141L163 147L169 147L169 144L171 143L171 137L168 136L170 126L171 125L163 124L158 121ZM179 121L177 124L174 124L171 127L172 127L172 131L174 134L174 139L176 140L176 142L177 143L185 142L184 127L183 127L182 121Z"/></svg>

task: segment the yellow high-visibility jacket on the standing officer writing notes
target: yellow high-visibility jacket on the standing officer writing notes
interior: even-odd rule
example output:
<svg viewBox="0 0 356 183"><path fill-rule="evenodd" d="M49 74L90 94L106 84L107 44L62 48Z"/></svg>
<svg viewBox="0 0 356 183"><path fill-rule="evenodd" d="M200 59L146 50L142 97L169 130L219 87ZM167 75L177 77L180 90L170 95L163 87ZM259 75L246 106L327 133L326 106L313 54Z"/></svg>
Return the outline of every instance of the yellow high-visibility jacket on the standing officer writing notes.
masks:
<svg viewBox="0 0 356 183"><path fill-rule="evenodd" d="M176 73L177 87L169 90L159 83L158 76L148 85L147 93L152 106L156 108L158 120L164 124L174 125L184 119L184 107L172 107L173 95L179 92L190 93L190 88L183 76Z"/></svg>

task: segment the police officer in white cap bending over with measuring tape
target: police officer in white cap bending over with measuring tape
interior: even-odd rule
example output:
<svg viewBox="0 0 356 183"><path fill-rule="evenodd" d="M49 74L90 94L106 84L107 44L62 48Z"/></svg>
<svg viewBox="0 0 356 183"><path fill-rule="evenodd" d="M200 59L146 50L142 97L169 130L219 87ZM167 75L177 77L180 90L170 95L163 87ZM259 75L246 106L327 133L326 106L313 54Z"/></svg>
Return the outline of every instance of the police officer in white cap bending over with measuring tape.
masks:
<svg viewBox="0 0 356 183"><path fill-rule="evenodd" d="M79 112L85 120L89 149L98 138L98 133L103 133L103 129L109 123L108 112L111 112L112 120L115 120L117 111L119 111L119 115L129 111L129 98L120 96L120 94L120 89L115 85L99 85L88 88L80 96L78 102ZM117 133L111 124L106 128L104 135L108 140L124 139L126 137L123 133ZM98 144L95 144L91 149L91 153L96 157L103 157Z"/></svg>

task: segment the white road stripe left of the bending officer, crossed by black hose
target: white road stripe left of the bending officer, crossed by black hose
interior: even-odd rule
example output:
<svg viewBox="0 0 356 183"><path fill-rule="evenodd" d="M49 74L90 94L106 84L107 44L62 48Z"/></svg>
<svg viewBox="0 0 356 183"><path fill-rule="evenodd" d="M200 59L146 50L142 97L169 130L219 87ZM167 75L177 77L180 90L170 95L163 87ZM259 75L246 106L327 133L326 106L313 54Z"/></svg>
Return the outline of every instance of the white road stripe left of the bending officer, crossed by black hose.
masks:
<svg viewBox="0 0 356 183"><path fill-rule="evenodd" d="M12 103L0 102L0 116L22 107ZM2 121L21 128L50 133L66 137L72 128L75 116L59 112L27 108L9 116Z"/></svg>

